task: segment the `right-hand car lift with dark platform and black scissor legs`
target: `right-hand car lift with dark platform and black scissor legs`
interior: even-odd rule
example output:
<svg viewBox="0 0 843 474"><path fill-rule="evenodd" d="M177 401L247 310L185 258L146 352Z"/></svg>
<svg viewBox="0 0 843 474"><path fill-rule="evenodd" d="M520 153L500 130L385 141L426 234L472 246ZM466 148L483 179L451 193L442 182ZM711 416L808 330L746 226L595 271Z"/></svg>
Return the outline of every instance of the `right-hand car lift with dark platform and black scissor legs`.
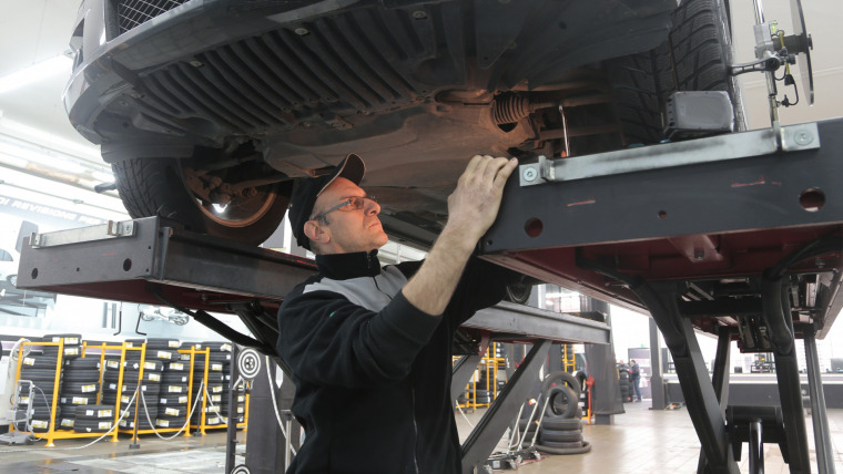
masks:
<svg viewBox="0 0 843 474"><path fill-rule="evenodd" d="M743 442L752 472L763 472L764 442L792 473L811 472L795 338L819 472L834 472L814 340L843 307L843 118L542 158L518 173L485 258L649 312L700 437L699 472L739 472ZM719 338L713 380L694 331ZM781 406L727 406L732 340L774 353Z"/></svg>

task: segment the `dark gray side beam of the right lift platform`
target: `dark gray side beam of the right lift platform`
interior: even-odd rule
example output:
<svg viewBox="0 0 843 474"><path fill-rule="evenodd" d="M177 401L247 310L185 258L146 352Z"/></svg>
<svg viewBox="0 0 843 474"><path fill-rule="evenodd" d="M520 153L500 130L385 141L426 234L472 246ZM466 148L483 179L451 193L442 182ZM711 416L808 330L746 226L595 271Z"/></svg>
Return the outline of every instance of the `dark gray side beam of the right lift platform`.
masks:
<svg viewBox="0 0 843 474"><path fill-rule="evenodd" d="M520 187L518 179L510 179L498 219L483 239L484 251L843 223L843 120L817 122L817 128L822 140L817 150L539 186ZM707 153L718 140L697 140L693 146L697 153ZM661 162L672 153L670 146L642 150L663 154ZM690 152L682 148L682 153ZM810 188L825 195L817 212L800 205L800 195ZM535 237L527 234L531 220L542 226Z"/></svg>

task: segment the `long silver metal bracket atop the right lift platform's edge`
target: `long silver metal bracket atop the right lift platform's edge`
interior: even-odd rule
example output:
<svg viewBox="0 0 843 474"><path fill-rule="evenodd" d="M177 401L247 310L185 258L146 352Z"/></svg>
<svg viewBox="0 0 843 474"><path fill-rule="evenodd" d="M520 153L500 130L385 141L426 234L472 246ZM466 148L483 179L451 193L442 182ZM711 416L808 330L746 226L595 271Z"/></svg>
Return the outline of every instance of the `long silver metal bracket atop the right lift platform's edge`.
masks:
<svg viewBox="0 0 843 474"><path fill-rule="evenodd" d="M718 135L519 166L521 187L820 147L816 123Z"/></svg>

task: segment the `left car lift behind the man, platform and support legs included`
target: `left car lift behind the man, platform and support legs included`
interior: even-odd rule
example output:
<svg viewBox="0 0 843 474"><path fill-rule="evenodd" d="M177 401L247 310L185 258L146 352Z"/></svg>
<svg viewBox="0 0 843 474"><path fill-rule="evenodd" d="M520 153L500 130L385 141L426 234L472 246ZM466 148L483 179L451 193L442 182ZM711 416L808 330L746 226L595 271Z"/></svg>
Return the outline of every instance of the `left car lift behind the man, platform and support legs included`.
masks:
<svg viewBox="0 0 843 474"><path fill-rule="evenodd" d="M24 244L20 261L20 288L170 306L233 342L272 357L285 372L274 350L275 315L284 295L316 269L306 258L185 231L159 217L35 234ZM236 313L255 337L234 331L209 311ZM460 333L465 356L454 369L457 389L466 387L490 341L532 344L464 444L465 472L486 463L531 396L551 342L610 342L606 323L508 302L478 311ZM261 430L260 425L250 426L253 434ZM230 458L234 435L230 430ZM276 446L266 453L250 451L247 460L264 460L262 467L268 464L272 468L265 472L275 472L275 451ZM232 472L248 472L241 467Z"/></svg>

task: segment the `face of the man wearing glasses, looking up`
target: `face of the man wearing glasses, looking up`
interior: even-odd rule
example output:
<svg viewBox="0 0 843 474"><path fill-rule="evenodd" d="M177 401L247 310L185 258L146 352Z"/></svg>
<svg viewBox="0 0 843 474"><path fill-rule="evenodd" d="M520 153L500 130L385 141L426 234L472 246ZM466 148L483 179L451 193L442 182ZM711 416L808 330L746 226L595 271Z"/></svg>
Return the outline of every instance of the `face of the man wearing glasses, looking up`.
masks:
<svg viewBox="0 0 843 474"><path fill-rule="evenodd" d="M339 177L322 192L313 206L313 215L318 215L349 197L366 196L359 186ZM388 237L377 217L380 206L369 199L365 200L362 209L342 208L327 215L327 223L315 220L318 229L324 233L319 241L323 254L348 254L353 251L370 251L383 247ZM313 239L313 238L312 238Z"/></svg>

